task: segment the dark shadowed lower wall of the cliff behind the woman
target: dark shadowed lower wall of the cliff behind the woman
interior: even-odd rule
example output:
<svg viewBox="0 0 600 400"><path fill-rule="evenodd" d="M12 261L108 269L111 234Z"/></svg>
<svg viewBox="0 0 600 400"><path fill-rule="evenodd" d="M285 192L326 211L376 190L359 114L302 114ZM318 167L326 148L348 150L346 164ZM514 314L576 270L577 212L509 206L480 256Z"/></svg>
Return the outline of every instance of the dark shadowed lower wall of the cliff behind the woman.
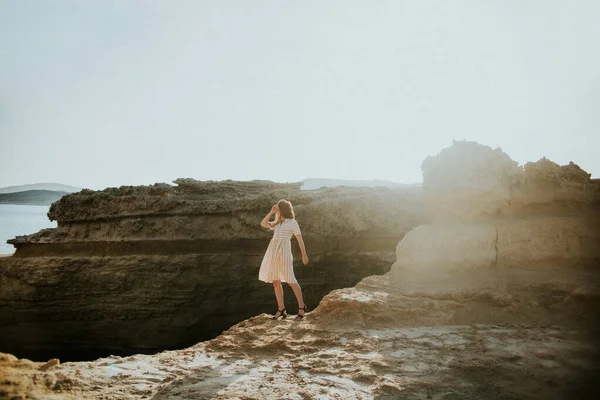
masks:
<svg viewBox="0 0 600 400"><path fill-rule="evenodd" d="M313 254L311 268L298 266L296 274L309 310L334 289L389 271L391 250ZM55 264L46 259L38 272L55 274L58 286L40 282L30 293L39 308L30 311L29 322L5 326L1 349L34 361L88 361L153 354L213 339L238 322L275 312L272 286L255 276L261 257L78 257L55 259ZM15 258L15 267L32 260ZM61 300L54 300L56 296ZM295 314L296 300L287 285L284 296L288 311Z"/></svg>

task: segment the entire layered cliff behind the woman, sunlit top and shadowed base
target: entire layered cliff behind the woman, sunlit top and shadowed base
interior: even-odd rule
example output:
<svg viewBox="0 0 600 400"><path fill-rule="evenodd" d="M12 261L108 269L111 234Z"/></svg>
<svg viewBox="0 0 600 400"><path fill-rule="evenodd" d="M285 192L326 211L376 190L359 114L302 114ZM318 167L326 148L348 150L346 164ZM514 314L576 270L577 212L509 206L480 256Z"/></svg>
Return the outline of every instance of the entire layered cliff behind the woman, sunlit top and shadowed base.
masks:
<svg viewBox="0 0 600 400"><path fill-rule="evenodd" d="M0 260L0 349L34 360L153 353L274 312L272 286L258 281L271 237L259 222L280 198L293 202L311 259L303 266L293 244L310 308L387 272L422 220L419 189L176 183L65 196L50 209L56 229L12 240L15 256Z"/></svg>

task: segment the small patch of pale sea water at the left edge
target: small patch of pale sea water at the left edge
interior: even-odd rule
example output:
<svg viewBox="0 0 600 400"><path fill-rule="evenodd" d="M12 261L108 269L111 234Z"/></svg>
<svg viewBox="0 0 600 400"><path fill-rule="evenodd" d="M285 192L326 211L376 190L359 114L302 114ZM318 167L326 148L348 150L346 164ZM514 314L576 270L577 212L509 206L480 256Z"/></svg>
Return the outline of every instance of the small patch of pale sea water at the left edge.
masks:
<svg viewBox="0 0 600 400"><path fill-rule="evenodd" d="M20 204L0 204L0 254L12 254L15 248L6 243L19 235L30 235L40 229L56 228L50 221L49 206L27 206Z"/></svg>

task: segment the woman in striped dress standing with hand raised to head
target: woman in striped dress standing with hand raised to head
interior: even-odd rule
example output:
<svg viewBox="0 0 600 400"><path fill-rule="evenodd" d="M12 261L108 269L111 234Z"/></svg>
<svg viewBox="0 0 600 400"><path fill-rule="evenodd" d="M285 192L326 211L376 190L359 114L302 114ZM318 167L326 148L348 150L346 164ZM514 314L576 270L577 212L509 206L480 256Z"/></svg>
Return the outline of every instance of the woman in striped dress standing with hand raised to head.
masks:
<svg viewBox="0 0 600 400"><path fill-rule="evenodd" d="M273 215L275 215L275 220L270 221ZM304 313L306 312L306 305L302 299L302 289L294 276L292 244L290 242L292 235L296 236L298 240L300 250L302 251L302 263L304 265L308 264L308 256L306 255L300 226L294 218L292 203L287 200L279 200L277 204L271 207L271 211L260 222L260 226L263 228L274 231L273 239L269 243L258 273L259 280L272 282L275 289L277 312L273 319L278 319L279 317L285 319L287 317L283 303L283 287L281 287L281 282L287 282L296 295L296 299L298 300L298 315L296 315L296 318L304 318Z"/></svg>

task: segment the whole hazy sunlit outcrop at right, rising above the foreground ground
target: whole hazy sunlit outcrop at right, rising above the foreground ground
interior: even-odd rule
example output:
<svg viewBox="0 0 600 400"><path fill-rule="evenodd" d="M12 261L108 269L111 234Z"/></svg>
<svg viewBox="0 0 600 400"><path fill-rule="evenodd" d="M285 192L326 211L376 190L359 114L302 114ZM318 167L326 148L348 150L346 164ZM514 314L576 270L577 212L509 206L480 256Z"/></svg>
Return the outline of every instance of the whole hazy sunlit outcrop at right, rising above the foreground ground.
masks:
<svg viewBox="0 0 600 400"><path fill-rule="evenodd" d="M398 244L394 276L600 263L600 182L577 165L519 167L500 149L463 141L422 168L430 222Z"/></svg>

